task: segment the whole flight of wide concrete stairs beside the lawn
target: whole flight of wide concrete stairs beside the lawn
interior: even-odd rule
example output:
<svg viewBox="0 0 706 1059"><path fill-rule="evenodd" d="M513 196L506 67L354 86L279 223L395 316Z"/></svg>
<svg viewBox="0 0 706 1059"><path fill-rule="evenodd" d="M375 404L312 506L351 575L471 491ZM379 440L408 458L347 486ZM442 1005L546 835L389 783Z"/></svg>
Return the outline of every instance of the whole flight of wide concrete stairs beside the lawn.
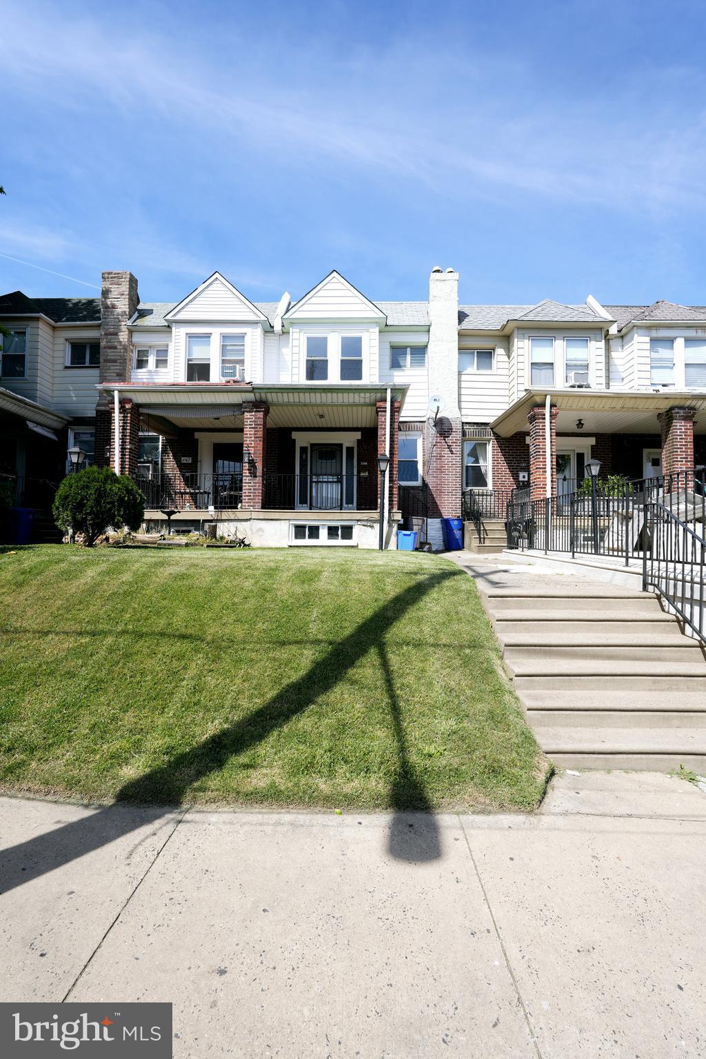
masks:
<svg viewBox="0 0 706 1059"><path fill-rule="evenodd" d="M706 771L706 659L656 596L611 585L479 588L556 765Z"/></svg>

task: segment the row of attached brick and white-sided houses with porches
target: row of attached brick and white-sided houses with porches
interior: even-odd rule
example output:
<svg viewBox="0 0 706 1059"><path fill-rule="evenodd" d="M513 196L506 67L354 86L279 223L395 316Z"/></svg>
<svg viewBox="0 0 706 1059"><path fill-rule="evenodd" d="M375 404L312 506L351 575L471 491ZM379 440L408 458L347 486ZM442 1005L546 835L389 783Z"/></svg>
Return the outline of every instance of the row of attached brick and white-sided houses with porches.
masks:
<svg viewBox="0 0 706 1059"><path fill-rule="evenodd" d="M135 479L148 525L375 548L406 521L440 548L471 490L497 514L592 457L631 479L706 457L701 306L459 305L440 268L422 302L333 271L296 300L214 273L165 304L104 272L99 299L0 298L0 474L30 506L79 448Z"/></svg>

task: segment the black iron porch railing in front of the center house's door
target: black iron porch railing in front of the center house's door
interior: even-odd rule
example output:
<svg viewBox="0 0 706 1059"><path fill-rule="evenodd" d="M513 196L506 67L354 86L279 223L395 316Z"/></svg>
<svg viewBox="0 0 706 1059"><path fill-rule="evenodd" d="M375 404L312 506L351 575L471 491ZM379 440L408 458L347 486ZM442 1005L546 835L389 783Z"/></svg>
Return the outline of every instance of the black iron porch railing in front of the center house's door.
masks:
<svg viewBox="0 0 706 1059"><path fill-rule="evenodd" d="M265 507L315 511L375 511L377 474L270 474L264 478Z"/></svg>

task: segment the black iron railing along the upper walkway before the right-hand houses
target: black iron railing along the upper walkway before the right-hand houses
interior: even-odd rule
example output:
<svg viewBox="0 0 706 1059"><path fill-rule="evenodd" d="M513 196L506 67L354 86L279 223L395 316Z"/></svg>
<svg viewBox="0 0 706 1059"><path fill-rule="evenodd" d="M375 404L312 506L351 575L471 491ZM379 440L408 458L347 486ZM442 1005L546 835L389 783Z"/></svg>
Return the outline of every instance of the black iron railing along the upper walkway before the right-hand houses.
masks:
<svg viewBox="0 0 706 1059"><path fill-rule="evenodd" d="M550 499L511 498L508 548L619 557L626 566L651 545L649 509L666 510L703 535L704 468L651 479L583 479L578 488Z"/></svg>

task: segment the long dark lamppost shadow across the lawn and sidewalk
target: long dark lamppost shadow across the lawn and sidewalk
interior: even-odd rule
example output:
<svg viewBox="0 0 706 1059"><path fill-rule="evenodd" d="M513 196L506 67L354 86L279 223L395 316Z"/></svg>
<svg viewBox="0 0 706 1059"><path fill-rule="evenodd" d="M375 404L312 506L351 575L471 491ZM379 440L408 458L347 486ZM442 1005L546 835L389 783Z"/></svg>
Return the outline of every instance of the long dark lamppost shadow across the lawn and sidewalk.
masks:
<svg viewBox="0 0 706 1059"><path fill-rule="evenodd" d="M232 757L256 746L306 711L312 702L333 688L372 649L377 649L380 656L397 743L398 767L390 792L390 804L395 812L391 822L388 849L393 857L413 863L440 857L436 820L409 759L401 710L384 648L384 636L411 607L442 581L454 576L459 576L455 570L435 573L398 593L351 633L336 643L304 676L287 684L254 713L197 747L177 754L165 765L125 784L115 795L116 805L107 806L90 816L3 850L0 854L0 893L7 893L23 882L166 816L170 807L184 803L193 784L216 772ZM142 808L128 808L128 805ZM164 808L160 809L159 806ZM410 810L423 812L423 821L409 815Z"/></svg>

